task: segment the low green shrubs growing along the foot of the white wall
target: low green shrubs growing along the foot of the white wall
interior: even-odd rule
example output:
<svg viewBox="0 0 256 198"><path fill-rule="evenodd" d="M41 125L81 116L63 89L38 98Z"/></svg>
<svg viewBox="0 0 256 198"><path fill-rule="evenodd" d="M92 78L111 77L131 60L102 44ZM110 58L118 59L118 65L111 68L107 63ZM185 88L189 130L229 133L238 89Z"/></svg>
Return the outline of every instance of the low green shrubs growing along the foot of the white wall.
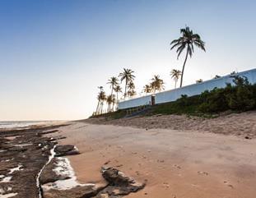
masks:
<svg viewBox="0 0 256 198"><path fill-rule="evenodd" d="M191 97L182 95L174 102L152 106L144 115L187 114L213 117L227 110L243 112L256 109L256 84L249 84L244 76L233 76L233 78L235 85L227 84L225 88L206 90L202 94ZM116 119L139 109L141 108L123 109L101 116Z"/></svg>

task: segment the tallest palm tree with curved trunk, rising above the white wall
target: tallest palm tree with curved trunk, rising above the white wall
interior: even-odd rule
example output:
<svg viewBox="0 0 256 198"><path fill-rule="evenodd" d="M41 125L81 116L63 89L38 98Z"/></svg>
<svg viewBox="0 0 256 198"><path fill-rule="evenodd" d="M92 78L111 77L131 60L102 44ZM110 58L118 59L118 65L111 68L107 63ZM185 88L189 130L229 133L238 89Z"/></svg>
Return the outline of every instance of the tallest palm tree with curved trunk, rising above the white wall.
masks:
<svg viewBox="0 0 256 198"><path fill-rule="evenodd" d="M182 67L181 78L180 78L180 87L182 87L184 67L187 62L188 55L190 58L192 57L193 45L205 51L205 48L204 48L205 43L201 40L198 34L193 34L193 30L190 30L189 27L180 29L180 34L182 34L182 36L179 37L179 39L175 39L170 43L170 45L172 45L170 50L177 47L177 50L176 50L176 53L178 53L177 59L179 59L179 55L184 51L184 49L187 50L184 64Z"/></svg>

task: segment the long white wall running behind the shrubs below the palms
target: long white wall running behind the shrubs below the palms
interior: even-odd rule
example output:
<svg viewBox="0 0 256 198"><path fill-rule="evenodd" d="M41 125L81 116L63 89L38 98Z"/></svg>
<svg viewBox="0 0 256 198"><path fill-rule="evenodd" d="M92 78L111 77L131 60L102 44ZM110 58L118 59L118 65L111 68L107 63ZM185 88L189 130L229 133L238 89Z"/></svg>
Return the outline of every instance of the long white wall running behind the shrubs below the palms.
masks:
<svg viewBox="0 0 256 198"><path fill-rule="evenodd" d="M238 76L246 76L248 81L252 84L256 83L256 69L243 71L237 73ZM156 94L156 104L167 103L179 99L182 94L187 94L188 96L201 94L205 90L213 90L215 87L224 88L226 83L233 84L233 79L230 75L223 76L221 78L212 79L209 81L203 81L202 83L187 85L175 90L166 90L161 93ZM141 105L146 105L151 103L151 95L142 96L137 99L128 99L119 102L119 109L123 108L133 108Z"/></svg>

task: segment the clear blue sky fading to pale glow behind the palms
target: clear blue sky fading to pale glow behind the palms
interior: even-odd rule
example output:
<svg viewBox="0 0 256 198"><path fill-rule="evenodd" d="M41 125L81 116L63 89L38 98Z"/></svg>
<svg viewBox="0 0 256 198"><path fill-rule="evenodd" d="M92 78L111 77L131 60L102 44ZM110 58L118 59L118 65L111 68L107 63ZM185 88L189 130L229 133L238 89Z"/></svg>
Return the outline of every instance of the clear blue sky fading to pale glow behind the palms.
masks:
<svg viewBox="0 0 256 198"><path fill-rule="evenodd" d="M170 42L188 25L201 35L184 85L256 67L254 0L2 0L0 121L74 120L95 111L98 93L123 67L137 92L153 75L173 89L181 70Z"/></svg>

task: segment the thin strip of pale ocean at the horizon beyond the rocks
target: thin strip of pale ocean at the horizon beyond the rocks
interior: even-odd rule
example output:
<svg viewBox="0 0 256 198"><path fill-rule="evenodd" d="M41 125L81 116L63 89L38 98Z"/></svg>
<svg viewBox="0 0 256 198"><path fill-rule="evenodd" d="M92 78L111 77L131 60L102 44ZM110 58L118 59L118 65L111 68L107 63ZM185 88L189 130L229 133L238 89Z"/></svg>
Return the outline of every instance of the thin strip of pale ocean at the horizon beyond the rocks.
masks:
<svg viewBox="0 0 256 198"><path fill-rule="evenodd" d="M30 127L32 125L50 124L54 122L56 121L0 121L0 129L23 128Z"/></svg>

